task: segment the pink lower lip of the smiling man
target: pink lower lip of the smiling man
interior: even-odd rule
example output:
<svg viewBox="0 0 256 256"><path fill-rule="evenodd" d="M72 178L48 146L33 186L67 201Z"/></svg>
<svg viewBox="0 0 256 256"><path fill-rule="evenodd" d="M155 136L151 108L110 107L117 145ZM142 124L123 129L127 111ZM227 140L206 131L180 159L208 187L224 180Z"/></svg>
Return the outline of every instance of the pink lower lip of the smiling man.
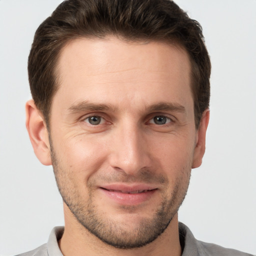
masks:
<svg viewBox="0 0 256 256"><path fill-rule="evenodd" d="M135 205L135 204L139 204L144 201L147 201L152 197L152 195L156 191L156 189L153 189L153 190L148 190L146 192L128 194L128 193L122 193L120 191L109 191L104 188L100 188L100 190L105 195L107 195L110 199L124 205Z"/></svg>

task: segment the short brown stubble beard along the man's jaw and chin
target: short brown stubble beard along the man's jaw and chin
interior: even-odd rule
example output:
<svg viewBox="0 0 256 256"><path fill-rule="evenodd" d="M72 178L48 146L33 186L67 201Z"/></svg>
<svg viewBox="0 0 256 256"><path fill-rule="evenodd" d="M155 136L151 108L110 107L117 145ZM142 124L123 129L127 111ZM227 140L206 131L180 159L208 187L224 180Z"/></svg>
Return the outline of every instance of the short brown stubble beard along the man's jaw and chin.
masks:
<svg viewBox="0 0 256 256"><path fill-rule="evenodd" d="M188 176L185 173L185 169L183 169L181 171L182 176L184 175L188 179L186 186L182 187L180 182L182 178L180 178L176 182L171 195L168 198L166 195L162 197L162 202L152 217L140 219L136 227L131 229L127 226L125 219L122 222L116 222L114 219L107 218L105 214L98 211L92 201L93 190L89 189L90 186L88 186L87 201L84 200L82 195L79 195L75 184L70 183L72 179L69 174L70 172L60 167L52 146L51 159L58 190L64 203L77 221L104 243L122 249L142 247L155 240L164 232L185 198L190 177L190 172ZM163 180L162 176L158 177L158 179L165 182L167 186L167 179ZM132 212L132 208L127 207L128 210Z"/></svg>

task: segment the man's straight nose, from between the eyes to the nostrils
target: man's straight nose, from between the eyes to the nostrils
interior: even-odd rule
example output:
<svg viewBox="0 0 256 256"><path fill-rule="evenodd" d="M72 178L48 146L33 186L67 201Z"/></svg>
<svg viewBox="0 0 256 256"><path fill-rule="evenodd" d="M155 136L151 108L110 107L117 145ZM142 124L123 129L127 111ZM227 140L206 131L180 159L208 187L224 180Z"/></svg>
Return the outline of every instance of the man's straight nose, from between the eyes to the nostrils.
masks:
<svg viewBox="0 0 256 256"><path fill-rule="evenodd" d="M151 166L146 134L136 124L129 123L115 128L109 146L109 163L117 170L134 175L142 168Z"/></svg>

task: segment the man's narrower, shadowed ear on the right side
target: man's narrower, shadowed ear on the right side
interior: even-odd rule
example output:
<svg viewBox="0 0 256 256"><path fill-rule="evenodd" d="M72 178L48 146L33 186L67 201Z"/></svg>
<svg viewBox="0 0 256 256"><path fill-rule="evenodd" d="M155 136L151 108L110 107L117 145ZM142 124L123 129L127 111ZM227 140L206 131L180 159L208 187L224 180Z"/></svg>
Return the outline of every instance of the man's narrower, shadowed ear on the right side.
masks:
<svg viewBox="0 0 256 256"><path fill-rule="evenodd" d="M197 168L202 163L202 157L205 152L205 136L209 122L209 113L210 112L208 108L205 109L202 113L200 124L197 130L197 139L194 148L192 168Z"/></svg>

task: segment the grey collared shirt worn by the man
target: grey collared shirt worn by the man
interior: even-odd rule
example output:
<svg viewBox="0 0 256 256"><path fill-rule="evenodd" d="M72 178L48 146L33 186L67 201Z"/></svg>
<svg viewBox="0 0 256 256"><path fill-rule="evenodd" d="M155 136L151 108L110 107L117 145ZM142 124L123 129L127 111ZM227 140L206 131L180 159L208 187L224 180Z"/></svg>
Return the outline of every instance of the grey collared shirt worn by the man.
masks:
<svg viewBox="0 0 256 256"><path fill-rule="evenodd" d="M182 256L253 256L238 250L196 240L189 228L181 222L178 224L178 229L183 250ZM17 256L63 256L58 247L58 239L61 238L63 231L63 226L54 227L50 232L47 243Z"/></svg>

